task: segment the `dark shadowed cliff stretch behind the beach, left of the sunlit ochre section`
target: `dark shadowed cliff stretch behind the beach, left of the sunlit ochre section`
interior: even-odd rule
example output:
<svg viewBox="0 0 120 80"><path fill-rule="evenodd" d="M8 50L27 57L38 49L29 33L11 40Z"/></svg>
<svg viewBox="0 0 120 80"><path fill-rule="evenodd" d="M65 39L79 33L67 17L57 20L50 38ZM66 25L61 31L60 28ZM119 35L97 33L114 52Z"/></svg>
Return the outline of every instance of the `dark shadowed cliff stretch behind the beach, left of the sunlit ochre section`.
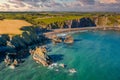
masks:
<svg viewBox="0 0 120 80"><path fill-rule="evenodd" d="M55 22L49 25L50 28L80 28L96 26L95 21L90 18L81 18L74 20L67 20L65 22Z"/></svg>

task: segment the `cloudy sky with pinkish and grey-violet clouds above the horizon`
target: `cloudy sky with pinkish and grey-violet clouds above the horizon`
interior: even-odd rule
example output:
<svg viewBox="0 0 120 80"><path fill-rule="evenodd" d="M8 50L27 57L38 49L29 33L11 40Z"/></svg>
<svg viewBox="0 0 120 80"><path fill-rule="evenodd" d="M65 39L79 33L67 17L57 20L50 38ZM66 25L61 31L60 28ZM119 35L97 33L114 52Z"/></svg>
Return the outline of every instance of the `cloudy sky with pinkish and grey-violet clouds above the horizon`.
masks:
<svg viewBox="0 0 120 80"><path fill-rule="evenodd" d="M0 0L0 11L120 12L120 0Z"/></svg>

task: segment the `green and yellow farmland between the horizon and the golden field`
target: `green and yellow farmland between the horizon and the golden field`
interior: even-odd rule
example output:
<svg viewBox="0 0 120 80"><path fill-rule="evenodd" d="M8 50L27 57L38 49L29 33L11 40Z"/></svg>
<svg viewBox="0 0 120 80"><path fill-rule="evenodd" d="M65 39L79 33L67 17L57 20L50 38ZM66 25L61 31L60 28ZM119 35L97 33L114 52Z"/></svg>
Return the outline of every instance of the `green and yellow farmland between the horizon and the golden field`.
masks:
<svg viewBox="0 0 120 80"><path fill-rule="evenodd" d="M26 20L27 22L41 26L47 27L48 24L55 22L64 22L66 20L80 19L82 17L91 16L89 13L50 13L50 12L40 12L40 13L0 13L0 19L20 19Z"/></svg>

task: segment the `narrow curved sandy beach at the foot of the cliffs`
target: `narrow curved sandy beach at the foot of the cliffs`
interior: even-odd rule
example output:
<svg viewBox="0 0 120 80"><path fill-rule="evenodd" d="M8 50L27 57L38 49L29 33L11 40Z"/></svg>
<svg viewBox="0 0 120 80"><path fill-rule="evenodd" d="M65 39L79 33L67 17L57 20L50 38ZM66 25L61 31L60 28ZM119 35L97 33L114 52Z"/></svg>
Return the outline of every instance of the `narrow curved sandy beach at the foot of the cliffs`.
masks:
<svg viewBox="0 0 120 80"><path fill-rule="evenodd" d="M115 30L120 31L120 27L83 27L83 28L67 28L67 29L52 29L51 32L46 32L44 35L48 38L52 38L52 35L57 35L60 33L71 33L71 32L79 32L86 30Z"/></svg>

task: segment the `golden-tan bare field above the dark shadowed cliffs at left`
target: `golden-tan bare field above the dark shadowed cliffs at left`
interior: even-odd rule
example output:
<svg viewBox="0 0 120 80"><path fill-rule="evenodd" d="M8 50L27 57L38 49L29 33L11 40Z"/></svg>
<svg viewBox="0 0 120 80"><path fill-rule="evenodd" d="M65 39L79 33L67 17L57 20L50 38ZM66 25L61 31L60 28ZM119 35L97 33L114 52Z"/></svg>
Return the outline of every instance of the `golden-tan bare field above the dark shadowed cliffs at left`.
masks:
<svg viewBox="0 0 120 80"><path fill-rule="evenodd" d="M21 27L31 25L24 20L0 20L0 34L21 34Z"/></svg>

